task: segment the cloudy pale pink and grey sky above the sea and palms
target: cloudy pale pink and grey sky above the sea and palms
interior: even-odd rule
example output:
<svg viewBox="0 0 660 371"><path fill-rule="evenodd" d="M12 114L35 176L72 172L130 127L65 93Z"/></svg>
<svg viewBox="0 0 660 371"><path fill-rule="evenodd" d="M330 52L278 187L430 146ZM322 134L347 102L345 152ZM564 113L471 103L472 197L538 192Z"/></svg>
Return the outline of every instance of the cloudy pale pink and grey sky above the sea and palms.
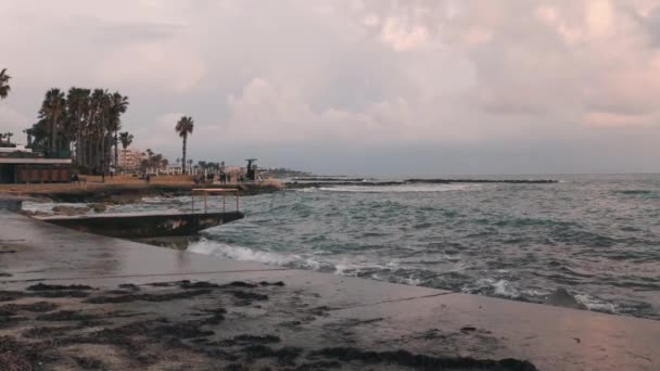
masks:
<svg viewBox="0 0 660 371"><path fill-rule="evenodd" d="M373 176L660 171L660 0L0 0L0 131L118 90L134 146Z"/></svg>

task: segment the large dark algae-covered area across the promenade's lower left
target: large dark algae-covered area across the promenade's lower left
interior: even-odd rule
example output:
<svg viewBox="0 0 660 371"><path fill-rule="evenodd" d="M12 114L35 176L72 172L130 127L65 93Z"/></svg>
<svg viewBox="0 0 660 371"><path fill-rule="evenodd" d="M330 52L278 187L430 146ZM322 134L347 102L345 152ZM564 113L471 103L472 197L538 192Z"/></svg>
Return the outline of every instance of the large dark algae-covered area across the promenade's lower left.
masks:
<svg viewBox="0 0 660 371"><path fill-rule="evenodd" d="M234 281L217 285L205 281L177 281L139 289L131 284L111 290L46 285L50 289L38 286L39 290L25 292L0 292L5 302L42 293L89 294L89 297L71 297L56 303L0 305L0 331L14 334L0 337L0 370L378 370L385 367L535 370L531 363L513 359L435 357L359 347L322 348L340 342L345 344L346 338L342 336L346 336L346 329L356 331L353 329L382 319L352 321L321 330L279 327L282 319L303 325L329 310L318 306L318 295L303 296L300 292L295 293L302 302L300 306L280 308L281 300L293 294L270 286L282 285L278 282ZM274 300L257 291L268 291ZM245 306L250 300L263 302L259 306ZM141 303L129 304L132 302ZM309 306L318 309L318 315L310 312ZM319 340L321 343L308 346L301 341L300 331L310 331L304 336L314 337L315 344ZM464 331L468 331L467 328ZM382 346L380 350L390 349Z"/></svg>

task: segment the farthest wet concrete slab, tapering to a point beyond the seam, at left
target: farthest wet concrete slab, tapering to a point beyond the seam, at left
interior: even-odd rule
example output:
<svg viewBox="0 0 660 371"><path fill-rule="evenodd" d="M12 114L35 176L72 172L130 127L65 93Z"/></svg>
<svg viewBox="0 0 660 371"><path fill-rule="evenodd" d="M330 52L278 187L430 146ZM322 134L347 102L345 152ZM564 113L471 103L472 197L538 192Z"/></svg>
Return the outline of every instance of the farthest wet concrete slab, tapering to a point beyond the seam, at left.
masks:
<svg viewBox="0 0 660 371"><path fill-rule="evenodd" d="M158 250L126 240L75 232L9 213L0 214L0 243L20 253L3 254L0 261L0 270L13 274L13 280L281 269Z"/></svg>

